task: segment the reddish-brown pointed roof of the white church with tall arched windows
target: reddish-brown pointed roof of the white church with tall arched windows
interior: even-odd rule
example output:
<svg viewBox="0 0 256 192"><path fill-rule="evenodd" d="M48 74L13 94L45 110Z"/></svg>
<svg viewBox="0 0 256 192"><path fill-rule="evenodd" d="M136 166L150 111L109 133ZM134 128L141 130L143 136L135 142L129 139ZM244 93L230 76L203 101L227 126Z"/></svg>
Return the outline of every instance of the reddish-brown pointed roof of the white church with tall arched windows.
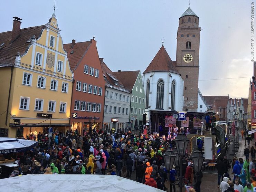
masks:
<svg viewBox="0 0 256 192"><path fill-rule="evenodd" d="M173 64L170 56L168 55L163 45L143 74L150 73L153 71L160 71L160 72L166 71L166 72L180 74L179 71L176 69L176 66Z"/></svg>

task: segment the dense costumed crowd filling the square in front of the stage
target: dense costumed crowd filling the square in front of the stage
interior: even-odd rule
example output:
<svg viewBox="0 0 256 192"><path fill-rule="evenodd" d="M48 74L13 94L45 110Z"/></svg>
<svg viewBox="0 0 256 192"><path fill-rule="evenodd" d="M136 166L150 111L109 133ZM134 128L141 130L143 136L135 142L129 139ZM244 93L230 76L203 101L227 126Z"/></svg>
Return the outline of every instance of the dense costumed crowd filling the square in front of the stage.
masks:
<svg viewBox="0 0 256 192"><path fill-rule="evenodd" d="M17 154L17 166L10 176L26 174L107 174L133 178L140 183L167 190L165 182L170 174L170 191L175 192L175 179L179 170L173 166L165 169L163 153L169 146L175 146L173 140L157 136L135 135L117 130L114 134L102 130L86 132L67 131L64 135L53 133L52 138L39 133L39 145L32 150ZM50 139L50 147L48 142ZM182 158L182 174L187 184L197 179L195 190L200 192L202 172L192 171L192 161ZM192 191L194 189L191 189ZM195 191L194 190L194 191Z"/></svg>

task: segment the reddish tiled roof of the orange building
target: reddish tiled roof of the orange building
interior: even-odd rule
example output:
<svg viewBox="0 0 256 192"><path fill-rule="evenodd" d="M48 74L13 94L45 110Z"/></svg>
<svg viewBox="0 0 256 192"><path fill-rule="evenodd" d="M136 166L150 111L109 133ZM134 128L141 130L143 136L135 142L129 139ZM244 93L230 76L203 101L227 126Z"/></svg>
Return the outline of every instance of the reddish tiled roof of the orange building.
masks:
<svg viewBox="0 0 256 192"><path fill-rule="evenodd" d="M71 70L75 70L77 65L83 59L86 51L89 49L91 41L76 42L72 47L72 44L64 44L63 48L67 51L68 62ZM73 53L71 53L73 52Z"/></svg>

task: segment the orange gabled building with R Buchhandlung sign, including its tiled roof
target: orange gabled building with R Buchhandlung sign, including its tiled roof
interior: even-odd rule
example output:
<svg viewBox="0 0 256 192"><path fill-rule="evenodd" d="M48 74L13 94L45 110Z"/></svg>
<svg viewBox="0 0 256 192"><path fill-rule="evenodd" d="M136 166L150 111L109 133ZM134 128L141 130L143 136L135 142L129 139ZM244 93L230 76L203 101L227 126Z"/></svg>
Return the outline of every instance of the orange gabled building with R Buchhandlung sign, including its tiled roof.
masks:
<svg viewBox="0 0 256 192"><path fill-rule="evenodd" d="M63 47L74 71L70 124L73 131L77 129L82 135L83 128L102 128L105 80L94 39L77 43L73 39Z"/></svg>

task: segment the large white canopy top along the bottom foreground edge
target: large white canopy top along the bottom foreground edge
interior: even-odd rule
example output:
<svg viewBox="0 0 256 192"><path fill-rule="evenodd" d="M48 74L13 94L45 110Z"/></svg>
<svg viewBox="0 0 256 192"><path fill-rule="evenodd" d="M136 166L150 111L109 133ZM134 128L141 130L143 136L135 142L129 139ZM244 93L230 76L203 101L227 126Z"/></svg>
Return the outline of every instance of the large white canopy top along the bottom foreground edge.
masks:
<svg viewBox="0 0 256 192"><path fill-rule="evenodd" d="M0 179L0 191L95 191L95 192L161 192L149 185L116 175L22 175Z"/></svg>

